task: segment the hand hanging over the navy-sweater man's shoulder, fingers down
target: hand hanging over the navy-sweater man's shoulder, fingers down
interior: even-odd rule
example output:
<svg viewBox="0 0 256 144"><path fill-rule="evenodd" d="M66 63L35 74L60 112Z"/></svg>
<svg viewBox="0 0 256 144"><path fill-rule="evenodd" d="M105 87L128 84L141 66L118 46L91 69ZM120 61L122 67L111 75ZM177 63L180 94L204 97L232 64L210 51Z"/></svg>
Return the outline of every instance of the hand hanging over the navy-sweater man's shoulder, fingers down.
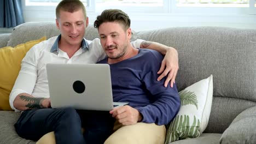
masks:
<svg viewBox="0 0 256 144"><path fill-rule="evenodd" d="M167 49L166 55L162 60L161 67L158 71L158 74L161 74L158 77L158 81L168 75L165 80L165 87L167 87L168 82L170 81L170 86L173 87L173 83L175 82L175 77L177 75L178 69L178 52L173 47L170 47L169 49Z"/></svg>

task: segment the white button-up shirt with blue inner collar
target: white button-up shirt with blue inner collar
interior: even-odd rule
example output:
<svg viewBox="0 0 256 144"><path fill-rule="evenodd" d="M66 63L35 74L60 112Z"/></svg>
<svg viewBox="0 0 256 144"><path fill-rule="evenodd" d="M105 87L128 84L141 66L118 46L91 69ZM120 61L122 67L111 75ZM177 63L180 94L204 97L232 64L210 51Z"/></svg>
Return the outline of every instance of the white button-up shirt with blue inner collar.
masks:
<svg viewBox="0 0 256 144"><path fill-rule="evenodd" d="M49 98L47 63L97 63L106 57L100 39L83 39L82 47L69 58L67 53L58 48L61 35L34 45L22 59L20 73L10 93L9 103L20 93L28 93L36 98ZM133 47L140 47L143 40L132 42Z"/></svg>

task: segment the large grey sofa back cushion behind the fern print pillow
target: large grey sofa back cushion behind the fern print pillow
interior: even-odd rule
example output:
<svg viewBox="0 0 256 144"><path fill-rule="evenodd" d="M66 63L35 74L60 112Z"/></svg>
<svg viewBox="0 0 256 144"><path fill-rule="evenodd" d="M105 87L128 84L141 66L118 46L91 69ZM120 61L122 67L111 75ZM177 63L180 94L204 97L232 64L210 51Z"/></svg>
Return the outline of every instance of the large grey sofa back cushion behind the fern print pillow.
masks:
<svg viewBox="0 0 256 144"><path fill-rule="evenodd" d="M213 98L209 133L223 133L238 113L256 105L256 29L178 27L136 32L134 38L177 49L179 91L213 75L217 99ZM231 105L234 101L241 105Z"/></svg>

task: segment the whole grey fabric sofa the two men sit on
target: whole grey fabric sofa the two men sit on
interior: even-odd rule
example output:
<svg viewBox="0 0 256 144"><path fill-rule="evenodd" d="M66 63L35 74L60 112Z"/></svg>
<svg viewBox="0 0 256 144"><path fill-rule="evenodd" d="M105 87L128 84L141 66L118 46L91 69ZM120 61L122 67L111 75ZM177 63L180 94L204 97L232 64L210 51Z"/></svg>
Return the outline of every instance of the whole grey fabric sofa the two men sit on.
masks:
<svg viewBox="0 0 256 144"><path fill-rule="evenodd" d="M1 34L0 47L16 46L44 35L50 38L59 34L55 22L27 22L15 27L11 34ZM91 40L97 37L97 30L89 26L85 38ZM212 109L206 130L195 139L172 143L230 143L232 136L225 140L222 136L236 132L229 129L236 117L237 121L233 123L251 128L252 132L246 130L246 135L255 133L256 29L165 28L133 32L132 39L156 41L177 49L179 71L176 83L179 91L213 75ZM238 116L241 112L242 116ZM0 111L0 143L35 143L16 134L13 125L19 116L20 113L14 111ZM247 117L250 119L245 120ZM244 142L234 140L231 143Z"/></svg>

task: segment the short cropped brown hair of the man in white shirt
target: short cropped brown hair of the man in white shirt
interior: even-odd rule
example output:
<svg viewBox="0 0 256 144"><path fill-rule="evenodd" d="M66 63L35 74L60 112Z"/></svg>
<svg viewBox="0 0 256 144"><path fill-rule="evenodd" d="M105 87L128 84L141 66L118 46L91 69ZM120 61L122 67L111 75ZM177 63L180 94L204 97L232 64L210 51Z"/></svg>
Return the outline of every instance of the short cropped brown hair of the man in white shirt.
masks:
<svg viewBox="0 0 256 144"><path fill-rule="evenodd" d="M82 9L84 12L84 18L86 19L86 9L84 7L84 4L79 0L62 0L56 7L56 18L59 19L60 17L60 11L68 11L69 13L74 13L75 11L78 11Z"/></svg>

